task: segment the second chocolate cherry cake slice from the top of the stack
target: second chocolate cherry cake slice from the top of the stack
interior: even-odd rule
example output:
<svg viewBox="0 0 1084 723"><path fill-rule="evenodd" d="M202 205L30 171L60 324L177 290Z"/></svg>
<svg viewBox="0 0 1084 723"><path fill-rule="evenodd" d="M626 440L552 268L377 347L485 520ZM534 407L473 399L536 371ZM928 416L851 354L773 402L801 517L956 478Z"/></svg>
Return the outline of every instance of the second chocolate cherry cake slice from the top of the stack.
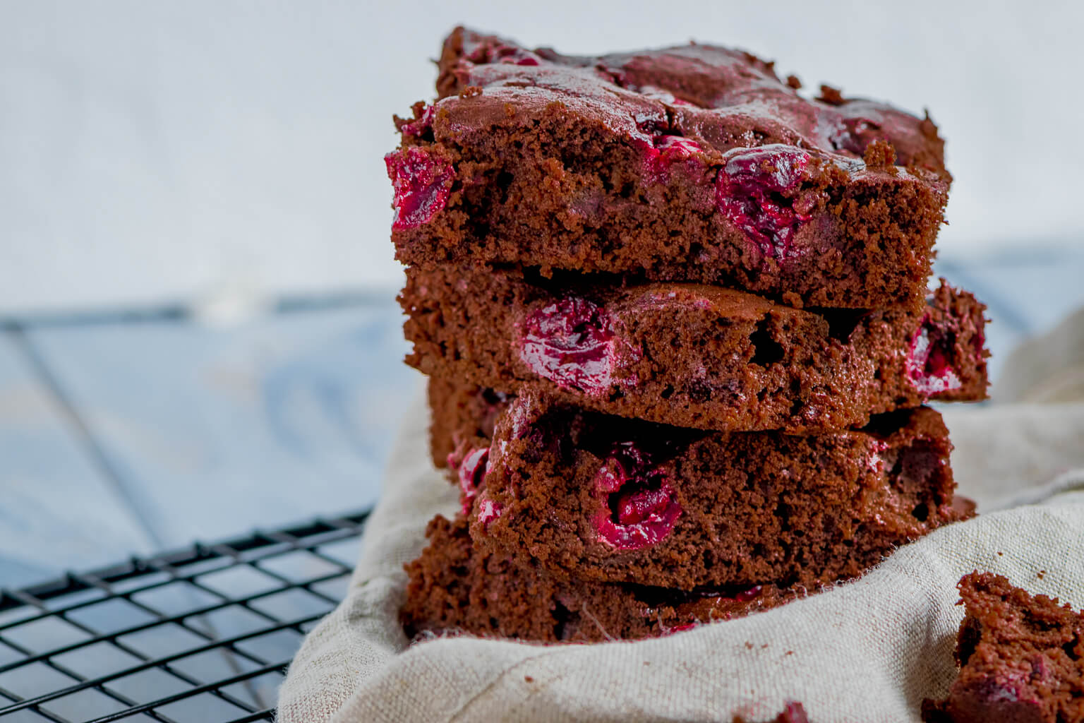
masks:
<svg viewBox="0 0 1084 723"><path fill-rule="evenodd" d="M984 306L942 281L919 311L797 310L702 284L529 282L408 269L406 363L502 392L715 430L813 434L986 396Z"/></svg>

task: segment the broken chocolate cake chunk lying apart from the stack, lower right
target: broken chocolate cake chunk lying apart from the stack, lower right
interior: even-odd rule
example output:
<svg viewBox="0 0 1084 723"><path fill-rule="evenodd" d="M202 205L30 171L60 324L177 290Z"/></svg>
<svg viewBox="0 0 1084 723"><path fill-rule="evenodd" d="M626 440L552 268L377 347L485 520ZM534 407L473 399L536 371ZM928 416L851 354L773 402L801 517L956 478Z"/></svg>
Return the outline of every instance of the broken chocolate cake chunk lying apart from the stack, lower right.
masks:
<svg viewBox="0 0 1084 723"><path fill-rule="evenodd" d="M959 581L959 675L927 723L1084 721L1084 612L991 572Z"/></svg>

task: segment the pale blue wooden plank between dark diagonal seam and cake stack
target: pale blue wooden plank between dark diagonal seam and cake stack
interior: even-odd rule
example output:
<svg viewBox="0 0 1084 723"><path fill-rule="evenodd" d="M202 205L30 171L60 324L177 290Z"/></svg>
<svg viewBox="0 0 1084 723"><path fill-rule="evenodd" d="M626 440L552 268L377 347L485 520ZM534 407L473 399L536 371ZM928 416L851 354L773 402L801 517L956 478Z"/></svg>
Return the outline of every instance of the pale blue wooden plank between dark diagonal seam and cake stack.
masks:
<svg viewBox="0 0 1084 723"><path fill-rule="evenodd" d="M163 546L372 504L418 379L377 308L42 328L62 379Z"/></svg>

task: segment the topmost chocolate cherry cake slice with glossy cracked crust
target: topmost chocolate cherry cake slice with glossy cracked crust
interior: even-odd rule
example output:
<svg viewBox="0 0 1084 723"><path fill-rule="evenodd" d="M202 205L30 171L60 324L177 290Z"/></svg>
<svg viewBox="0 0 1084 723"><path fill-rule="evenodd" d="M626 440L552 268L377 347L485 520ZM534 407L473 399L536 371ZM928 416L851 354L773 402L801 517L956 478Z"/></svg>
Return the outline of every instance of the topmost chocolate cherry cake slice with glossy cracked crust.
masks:
<svg viewBox="0 0 1084 723"><path fill-rule="evenodd" d="M749 53L568 56L456 29L386 157L399 260L921 306L951 178L928 118Z"/></svg>

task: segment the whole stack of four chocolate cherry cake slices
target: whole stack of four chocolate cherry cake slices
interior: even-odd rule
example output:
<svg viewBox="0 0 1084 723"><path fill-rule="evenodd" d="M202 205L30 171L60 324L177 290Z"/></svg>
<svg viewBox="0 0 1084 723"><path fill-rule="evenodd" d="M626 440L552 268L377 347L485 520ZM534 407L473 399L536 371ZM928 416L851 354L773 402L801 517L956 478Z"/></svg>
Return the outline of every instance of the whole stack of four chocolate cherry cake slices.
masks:
<svg viewBox="0 0 1084 723"><path fill-rule="evenodd" d="M456 29L397 118L406 362L462 512L409 634L662 635L861 576L966 518L927 400L986 389L983 306L927 287L929 118L691 44Z"/></svg>

